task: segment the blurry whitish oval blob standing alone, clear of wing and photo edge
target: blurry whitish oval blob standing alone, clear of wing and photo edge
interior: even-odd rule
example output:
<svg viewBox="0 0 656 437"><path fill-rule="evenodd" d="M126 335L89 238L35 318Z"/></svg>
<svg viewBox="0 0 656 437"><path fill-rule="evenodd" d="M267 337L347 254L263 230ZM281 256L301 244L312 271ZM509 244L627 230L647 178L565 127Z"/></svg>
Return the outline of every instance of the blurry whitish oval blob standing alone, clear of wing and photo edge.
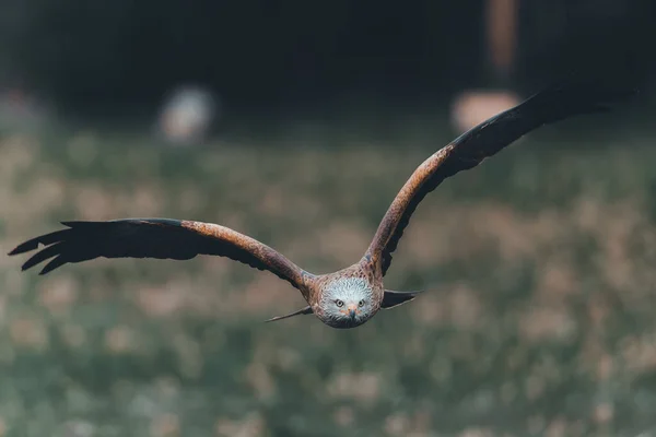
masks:
<svg viewBox="0 0 656 437"><path fill-rule="evenodd" d="M209 90L183 85L165 99L159 130L173 144L191 145L207 138L219 110L219 101Z"/></svg>

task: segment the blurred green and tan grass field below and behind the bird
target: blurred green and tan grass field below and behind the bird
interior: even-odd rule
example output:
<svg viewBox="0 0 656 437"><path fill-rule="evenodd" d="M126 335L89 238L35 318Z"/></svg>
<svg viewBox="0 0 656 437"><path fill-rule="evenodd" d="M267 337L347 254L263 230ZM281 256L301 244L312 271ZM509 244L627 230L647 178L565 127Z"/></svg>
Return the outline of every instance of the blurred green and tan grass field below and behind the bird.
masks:
<svg viewBox="0 0 656 437"><path fill-rule="evenodd" d="M328 272L361 257L450 139L438 137L166 150L7 133L0 246L60 220L166 216ZM261 323L303 299L230 260L102 259L38 276L2 256L0 436L656 435L648 143L550 130L447 180L386 281L425 293L355 330Z"/></svg>

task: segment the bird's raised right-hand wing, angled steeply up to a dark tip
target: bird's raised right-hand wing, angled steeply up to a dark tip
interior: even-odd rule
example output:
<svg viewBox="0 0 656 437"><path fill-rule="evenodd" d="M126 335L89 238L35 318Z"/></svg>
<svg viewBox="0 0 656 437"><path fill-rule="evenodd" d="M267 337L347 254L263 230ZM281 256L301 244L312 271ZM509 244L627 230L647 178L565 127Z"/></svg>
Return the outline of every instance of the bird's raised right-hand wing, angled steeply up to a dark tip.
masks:
<svg viewBox="0 0 656 437"><path fill-rule="evenodd" d="M610 90L600 83L559 83L465 132L410 176L383 217L367 258L385 275L417 205L447 177L476 167L540 126L578 114L605 111L608 104L633 93L633 90Z"/></svg>

